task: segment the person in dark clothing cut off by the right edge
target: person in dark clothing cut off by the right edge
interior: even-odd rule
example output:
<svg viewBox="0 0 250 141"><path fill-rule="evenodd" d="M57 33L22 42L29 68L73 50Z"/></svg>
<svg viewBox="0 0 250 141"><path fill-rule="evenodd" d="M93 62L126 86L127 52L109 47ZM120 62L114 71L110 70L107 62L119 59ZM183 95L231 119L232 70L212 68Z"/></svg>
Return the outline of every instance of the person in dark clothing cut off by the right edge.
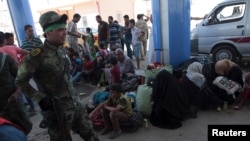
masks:
<svg viewBox="0 0 250 141"><path fill-rule="evenodd" d="M235 110L240 110L242 105L247 101L250 96L250 74L245 77L244 91L238 96L239 101L233 107Z"/></svg>

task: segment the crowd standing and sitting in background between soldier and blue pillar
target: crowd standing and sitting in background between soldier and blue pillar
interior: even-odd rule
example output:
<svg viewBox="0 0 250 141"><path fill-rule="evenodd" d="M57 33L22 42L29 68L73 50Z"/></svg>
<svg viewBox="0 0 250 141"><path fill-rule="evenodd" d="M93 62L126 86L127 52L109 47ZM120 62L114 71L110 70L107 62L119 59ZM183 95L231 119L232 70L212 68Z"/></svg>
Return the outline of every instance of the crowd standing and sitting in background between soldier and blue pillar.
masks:
<svg viewBox="0 0 250 141"><path fill-rule="evenodd" d="M118 79L116 76L122 76L124 73L134 74L136 69L140 69L140 60L144 60L146 56L148 40L149 18L143 19L143 16L145 15L138 14L135 22L134 19L129 19L128 15L124 15L125 25L122 26L114 21L112 16L105 22L100 15L97 15L98 45L96 45L91 28L86 28L87 35L80 35L77 32L76 23L81 16L74 14L67 26L66 37L69 45L67 53L72 62L73 84L90 83L103 86L118 80L120 83L121 78ZM84 43L79 46L78 38L81 37ZM124 45L127 54L124 52ZM136 59L136 67L132 61L133 56Z"/></svg>

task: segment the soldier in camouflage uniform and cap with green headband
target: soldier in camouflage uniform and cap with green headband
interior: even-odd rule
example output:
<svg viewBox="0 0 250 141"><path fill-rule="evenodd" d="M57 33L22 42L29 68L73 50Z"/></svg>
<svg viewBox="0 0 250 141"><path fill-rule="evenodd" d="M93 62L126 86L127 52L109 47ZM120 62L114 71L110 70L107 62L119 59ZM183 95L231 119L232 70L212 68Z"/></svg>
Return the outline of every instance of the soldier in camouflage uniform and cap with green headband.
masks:
<svg viewBox="0 0 250 141"><path fill-rule="evenodd" d="M66 37L66 21L67 15L58 15L54 11L41 15L39 23L45 32L46 40L43 47L32 50L25 58L18 69L16 81L27 97L38 102L51 141L72 140L61 132L58 111L52 108L52 98L57 99L69 129L78 133L84 141L99 141L86 109L79 102L70 81L70 60L62 46ZM36 91L29 84L33 76L41 84L43 92Z"/></svg>

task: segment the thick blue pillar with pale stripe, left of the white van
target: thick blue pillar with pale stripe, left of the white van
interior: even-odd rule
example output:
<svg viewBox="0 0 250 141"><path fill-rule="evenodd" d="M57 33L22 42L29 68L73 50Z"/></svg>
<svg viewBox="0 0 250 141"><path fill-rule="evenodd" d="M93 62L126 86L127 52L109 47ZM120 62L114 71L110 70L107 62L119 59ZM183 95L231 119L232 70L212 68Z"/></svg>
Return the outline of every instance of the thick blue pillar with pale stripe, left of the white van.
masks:
<svg viewBox="0 0 250 141"><path fill-rule="evenodd" d="M190 0L152 0L152 16L156 61L176 67L188 60Z"/></svg>

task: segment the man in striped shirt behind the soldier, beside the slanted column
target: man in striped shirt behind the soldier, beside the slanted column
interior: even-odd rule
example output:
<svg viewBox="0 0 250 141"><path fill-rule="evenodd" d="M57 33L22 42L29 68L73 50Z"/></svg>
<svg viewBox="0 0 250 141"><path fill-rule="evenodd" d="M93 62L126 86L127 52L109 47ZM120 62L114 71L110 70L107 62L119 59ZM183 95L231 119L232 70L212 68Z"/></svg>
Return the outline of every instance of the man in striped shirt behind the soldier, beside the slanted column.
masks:
<svg viewBox="0 0 250 141"><path fill-rule="evenodd" d="M42 41L40 38L34 36L34 30L31 25L25 25L24 31L26 38L22 41L21 48L31 51L34 48L42 46Z"/></svg>

